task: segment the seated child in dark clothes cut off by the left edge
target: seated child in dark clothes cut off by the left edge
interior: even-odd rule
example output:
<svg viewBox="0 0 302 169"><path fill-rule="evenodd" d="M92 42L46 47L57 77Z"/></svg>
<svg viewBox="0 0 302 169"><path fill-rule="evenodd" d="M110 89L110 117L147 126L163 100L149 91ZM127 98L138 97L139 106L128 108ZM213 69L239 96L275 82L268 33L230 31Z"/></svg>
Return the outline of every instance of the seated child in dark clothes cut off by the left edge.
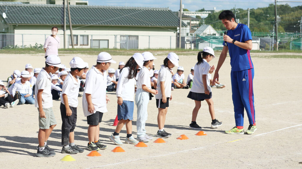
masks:
<svg viewBox="0 0 302 169"><path fill-rule="evenodd" d="M0 106L4 106L6 108L14 107L19 103L19 99L13 100L11 94L9 93L8 89L3 84L3 81L0 80Z"/></svg>

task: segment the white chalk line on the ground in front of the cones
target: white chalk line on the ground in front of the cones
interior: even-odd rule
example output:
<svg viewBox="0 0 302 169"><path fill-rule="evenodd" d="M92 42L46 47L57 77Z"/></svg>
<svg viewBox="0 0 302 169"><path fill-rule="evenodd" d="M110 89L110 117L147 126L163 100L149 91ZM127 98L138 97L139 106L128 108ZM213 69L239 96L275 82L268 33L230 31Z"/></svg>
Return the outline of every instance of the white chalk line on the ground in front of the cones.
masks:
<svg viewBox="0 0 302 169"><path fill-rule="evenodd" d="M266 133L262 133L262 134L257 134L255 136L260 136L260 135L264 135L264 134L268 134L268 133L272 133L272 132L276 132L276 131L280 131L280 130L285 130L285 129L293 128L293 127L297 127L297 126L302 126L302 124L287 127L287 128L281 128L281 129L278 129L278 130L275 130L275 131L270 131L270 132L266 132ZM255 136L252 136L252 137L255 137ZM251 137L249 137L249 138L251 138ZM243 139L247 139L247 138L243 138ZM171 153L168 153L168 154L156 155L156 156L151 156L151 157L147 157L147 158L139 158L139 159L134 159L134 160L129 160L129 161L121 161L121 162L118 162L118 163L106 164L106 165L101 165L101 166L98 166L98 167L90 167L90 168L86 168L86 169L99 168L99 167L105 167L105 166L108 166L108 165L116 165L116 164L122 164L122 163L126 163L126 162L132 162L132 161L145 160L145 159L149 159L149 158L156 158L156 157L161 157L161 156L166 156L166 155L172 155L172 154L177 154L177 153L181 153L181 152L187 152L187 151L192 151L192 150L203 149L203 148L206 148L206 147L217 146L217 145L220 145L220 144L231 143L231 142L235 142L235 141L239 141L239 140L243 140L243 139L237 139L237 140L228 141L228 142L224 142L224 143L213 144L213 145L210 145L210 146L201 146L201 147L197 147L197 148L194 148L194 149L187 149L187 150L178 151L178 152L171 152Z"/></svg>

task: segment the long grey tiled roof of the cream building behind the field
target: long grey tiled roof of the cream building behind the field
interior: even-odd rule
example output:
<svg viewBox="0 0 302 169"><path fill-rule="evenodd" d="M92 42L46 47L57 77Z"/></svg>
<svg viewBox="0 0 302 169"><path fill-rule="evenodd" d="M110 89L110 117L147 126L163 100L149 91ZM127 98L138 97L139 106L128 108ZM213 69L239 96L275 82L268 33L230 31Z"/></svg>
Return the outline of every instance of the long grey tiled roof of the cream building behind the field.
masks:
<svg viewBox="0 0 302 169"><path fill-rule="evenodd" d="M63 25L63 5L0 3L6 24ZM72 25L178 27L179 19L169 8L70 5ZM5 10L4 10L5 11ZM2 16L2 15L1 15ZM2 18L2 17L1 17ZM69 24L66 5L66 24ZM182 23L182 26L186 26Z"/></svg>

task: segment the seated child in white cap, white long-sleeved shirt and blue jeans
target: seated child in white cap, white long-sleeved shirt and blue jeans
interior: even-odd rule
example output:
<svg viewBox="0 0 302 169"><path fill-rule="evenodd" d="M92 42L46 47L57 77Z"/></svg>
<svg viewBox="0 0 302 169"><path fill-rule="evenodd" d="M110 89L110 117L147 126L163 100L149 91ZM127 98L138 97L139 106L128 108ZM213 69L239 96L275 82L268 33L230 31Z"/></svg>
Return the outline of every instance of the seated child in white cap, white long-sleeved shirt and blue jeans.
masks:
<svg viewBox="0 0 302 169"><path fill-rule="evenodd" d="M31 89L31 83L28 81L31 75L28 71L23 70L21 72L21 79L16 81L14 87L11 90L11 94L13 97L15 96L16 92L19 92L21 95L20 104L28 103L34 104L35 100L31 97L33 91Z"/></svg>

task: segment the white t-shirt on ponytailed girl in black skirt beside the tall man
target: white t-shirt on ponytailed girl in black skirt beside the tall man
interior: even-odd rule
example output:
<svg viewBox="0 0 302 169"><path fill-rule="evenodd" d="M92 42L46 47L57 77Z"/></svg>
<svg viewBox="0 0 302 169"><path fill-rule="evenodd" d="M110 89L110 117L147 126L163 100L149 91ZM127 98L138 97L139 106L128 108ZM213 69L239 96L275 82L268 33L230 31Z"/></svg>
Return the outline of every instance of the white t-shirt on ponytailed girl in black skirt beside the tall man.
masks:
<svg viewBox="0 0 302 169"><path fill-rule="evenodd" d="M207 60L203 59L203 63L199 65L195 64L194 66L194 80L191 87L191 92L195 93L204 93L204 84L202 82L202 75L207 75L210 70L210 64L207 63ZM207 76L207 89L211 92L210 80Z"/></svg>

